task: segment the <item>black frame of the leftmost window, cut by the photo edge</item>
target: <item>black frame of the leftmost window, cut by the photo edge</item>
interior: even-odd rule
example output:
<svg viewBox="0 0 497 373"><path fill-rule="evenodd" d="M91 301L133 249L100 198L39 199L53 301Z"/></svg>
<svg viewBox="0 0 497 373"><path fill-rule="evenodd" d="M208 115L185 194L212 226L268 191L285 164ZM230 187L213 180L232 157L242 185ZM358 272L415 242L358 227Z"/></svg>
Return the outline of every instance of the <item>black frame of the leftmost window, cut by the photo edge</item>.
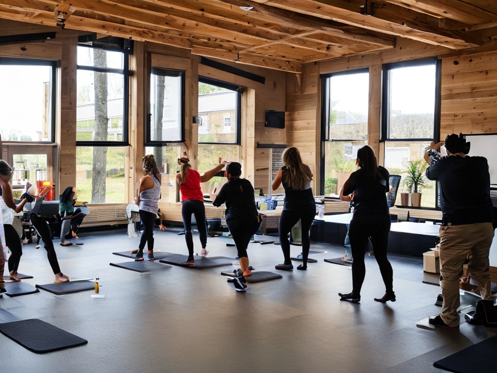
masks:
<svg viewBox="0 0 497 373"><path fill-rule="evenodd" d="M17 143L17 144L54 144L56 119L57 119L57 68L59 64L55 60L43 60L33 58L16 58L16 57L0 57L0 65L14 65L14 66L49 66L52 69L51 82L50 82L50 127L51 139L50 141L9 141L2 139L3 143Z"/></svg>

